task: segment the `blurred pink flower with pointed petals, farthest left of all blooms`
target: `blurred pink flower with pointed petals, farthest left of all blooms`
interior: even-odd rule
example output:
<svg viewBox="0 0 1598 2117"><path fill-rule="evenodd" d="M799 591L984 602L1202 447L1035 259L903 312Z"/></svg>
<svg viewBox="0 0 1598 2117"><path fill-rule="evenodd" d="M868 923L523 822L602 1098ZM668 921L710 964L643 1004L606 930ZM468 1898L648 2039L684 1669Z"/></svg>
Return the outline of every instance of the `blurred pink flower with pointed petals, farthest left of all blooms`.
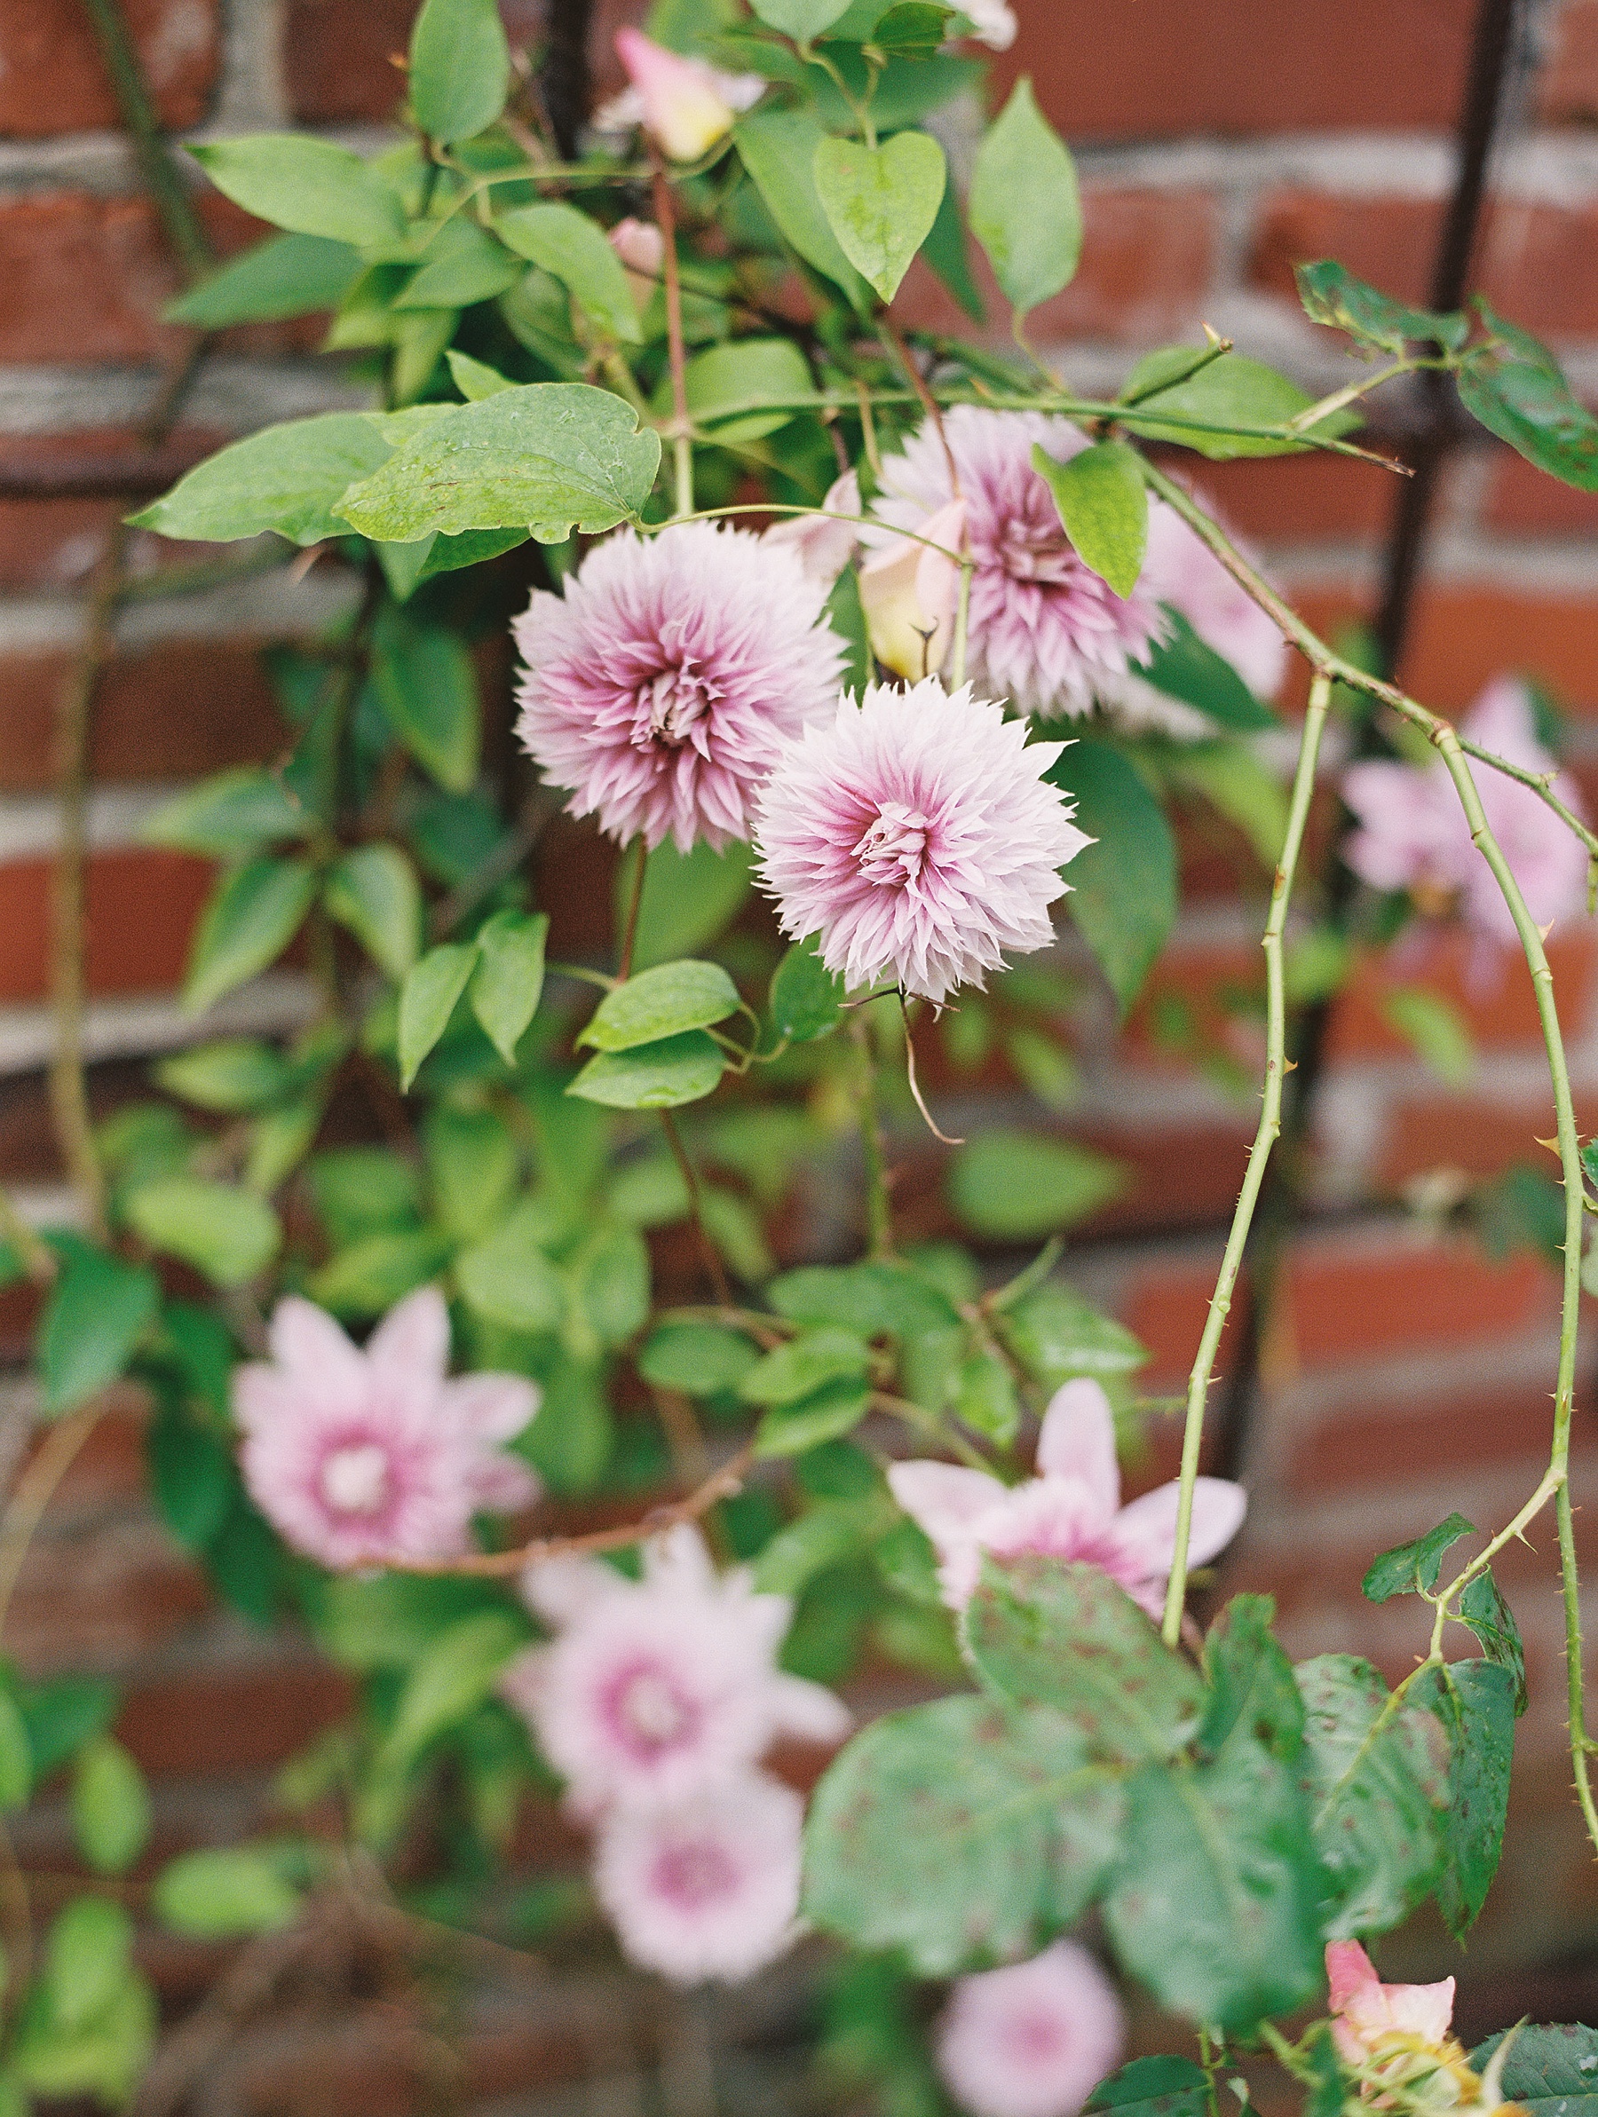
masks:
<svg viewBox="0 0 1598 2117"><path fill-rule="evenodd" d="M233 1378L243 1482L307 1558L455 1558L478 1509L538 1497L533 1473L502 1448L538 1410L538 1389L519 1374L447 1380L449 1310L436 1287L392 1308L366 1351L288 1296L273 1310L271 1355Z"/></svg>

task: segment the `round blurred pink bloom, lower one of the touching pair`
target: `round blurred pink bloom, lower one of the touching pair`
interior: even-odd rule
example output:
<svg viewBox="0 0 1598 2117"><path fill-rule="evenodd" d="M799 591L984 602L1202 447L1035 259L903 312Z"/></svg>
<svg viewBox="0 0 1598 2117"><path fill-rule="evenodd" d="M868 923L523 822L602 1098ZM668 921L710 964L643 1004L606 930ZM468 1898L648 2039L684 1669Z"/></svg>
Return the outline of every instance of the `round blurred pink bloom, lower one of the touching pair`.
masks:
<svg viewBox="0 0 1598 2117"><path fill-rule="evenodd" d="M741 1772L667 1808L599 1827L595 1890L633 1962L673 1984L737 1982L798 1933L804 1806Z"/></svg>

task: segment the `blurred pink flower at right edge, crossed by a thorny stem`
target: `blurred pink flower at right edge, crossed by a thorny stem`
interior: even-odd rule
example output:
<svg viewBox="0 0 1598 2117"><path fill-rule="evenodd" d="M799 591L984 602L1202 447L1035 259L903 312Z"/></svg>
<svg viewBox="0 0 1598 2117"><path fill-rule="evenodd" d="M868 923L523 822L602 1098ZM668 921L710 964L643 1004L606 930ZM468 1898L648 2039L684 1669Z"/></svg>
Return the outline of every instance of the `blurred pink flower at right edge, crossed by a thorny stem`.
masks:
<svg viewBox="0 0 1598 2117"><path fill-rule="evenodd" d="M1471 707L1463 732L1496 756L1532 773L1556 773L1537 741L1532 703L1524 684L1499 677ZM1532 788L1505 779L1488 764L1473 764L1482 809L1526 908L1539 927L1585 910L1587 855L1570 830ZM1554 792L1577 815L1581 794L1568 773ZM1515 944L1515 923L1486 860L1471 840L1471 826L1441 760L1435 764L1350 764L1342 798L1359 830L1344 860L1376 889L1410 889L1422 908L1458 898L1465 923L1484 940Z"/></svg>

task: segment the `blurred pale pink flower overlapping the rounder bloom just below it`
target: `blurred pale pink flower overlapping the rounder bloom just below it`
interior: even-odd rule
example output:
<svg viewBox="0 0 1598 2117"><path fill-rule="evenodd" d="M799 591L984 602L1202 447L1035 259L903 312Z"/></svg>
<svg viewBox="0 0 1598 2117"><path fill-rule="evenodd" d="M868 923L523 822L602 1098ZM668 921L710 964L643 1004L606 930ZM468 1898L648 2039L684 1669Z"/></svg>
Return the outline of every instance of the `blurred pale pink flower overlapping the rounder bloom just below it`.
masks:
<svg viewBox="0 0 1598 2117"><path fill-rule="evenodd" d="M743 1569L718 1577L686 1524L646 1545L641 1581L548 1560L529 1567L525 1592L559 1636L510 1664L506 1696L584 1814L686 1799L781 1734L849 1732L832 1691L777 1668L787 1596L753 1594Z"/></svg>

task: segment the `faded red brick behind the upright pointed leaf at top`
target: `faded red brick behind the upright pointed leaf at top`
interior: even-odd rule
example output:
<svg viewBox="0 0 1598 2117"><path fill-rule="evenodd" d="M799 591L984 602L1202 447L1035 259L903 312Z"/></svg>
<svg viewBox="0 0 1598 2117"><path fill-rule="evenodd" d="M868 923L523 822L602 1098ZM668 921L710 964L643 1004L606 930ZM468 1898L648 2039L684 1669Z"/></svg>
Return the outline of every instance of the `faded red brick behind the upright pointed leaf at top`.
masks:
<svg viewBox="0 0 1598 2117"><path fill-rule="evenodd" d="M1206 193L1107 191L1084 197L1084 241L1077 277L1054 301L1031 311L1027 330L1037 345L1056 339L1115 339L1141 345L1192 324L1211 288L1215 201ZM971 269L988 309L986 337L1010 343L1010 303L980 248ZM902 324L965 337L969 318L955 296L916 260L895 303Z"/></svg>

